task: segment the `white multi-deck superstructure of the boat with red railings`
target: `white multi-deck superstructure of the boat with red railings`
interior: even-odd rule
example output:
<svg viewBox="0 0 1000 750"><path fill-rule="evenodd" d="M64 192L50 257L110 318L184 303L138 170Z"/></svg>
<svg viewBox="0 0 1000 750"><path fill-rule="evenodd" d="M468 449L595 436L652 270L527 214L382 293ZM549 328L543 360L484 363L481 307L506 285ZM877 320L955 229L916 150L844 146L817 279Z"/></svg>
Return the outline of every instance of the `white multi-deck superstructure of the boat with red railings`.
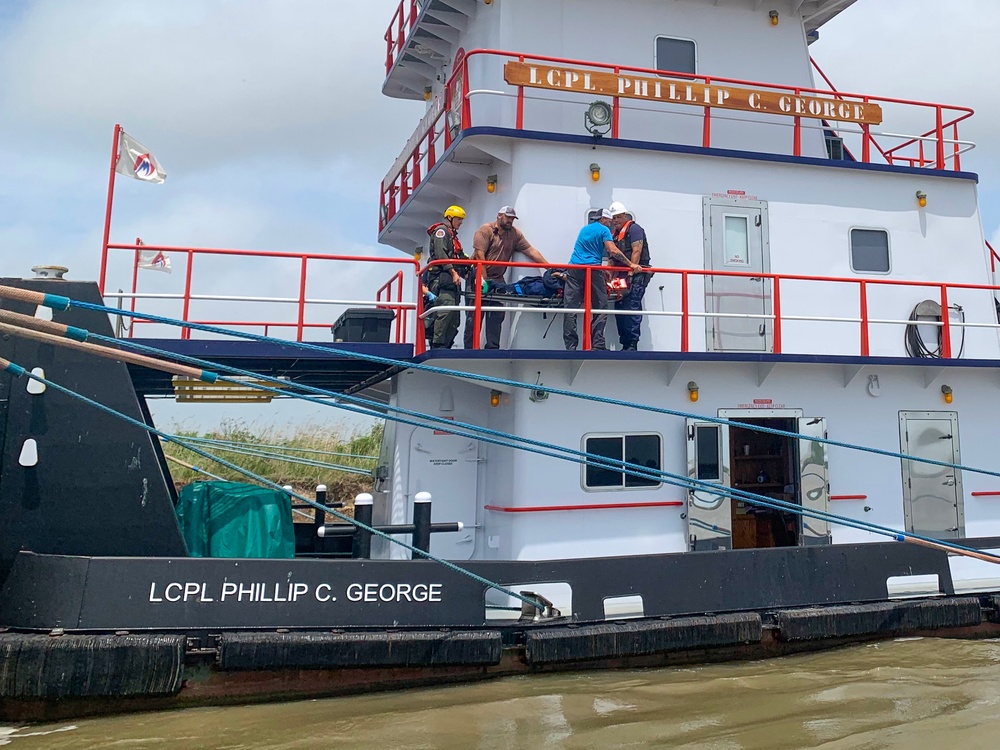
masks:
<svg viewBox="0 0 1000 750"><path fill-rule="evenodd" d="M426 98L428 114L383 182L381 241L420 252L458 203L471 251L475 228L510 204L558 265L590 213L620 201L657 272L637 353L568 353L559 312L527 308L508 313L506 350L427 361L535 392L410 371L394 402L863 522L997 534L1000 481L810 440L993 465L984 412L1000 338L977 178L962 167L971 111L830 92L808 45L852 4L402 4L384 92ZM598 101L603 128L585 119ZM613 318L607 332L614 343ZM935 356L912 356L914 336ZM443 430L389 429L382 464L382 520L407 519L431 491L437 519L466 525L433 541L454 559L874 539Z"/></svg>

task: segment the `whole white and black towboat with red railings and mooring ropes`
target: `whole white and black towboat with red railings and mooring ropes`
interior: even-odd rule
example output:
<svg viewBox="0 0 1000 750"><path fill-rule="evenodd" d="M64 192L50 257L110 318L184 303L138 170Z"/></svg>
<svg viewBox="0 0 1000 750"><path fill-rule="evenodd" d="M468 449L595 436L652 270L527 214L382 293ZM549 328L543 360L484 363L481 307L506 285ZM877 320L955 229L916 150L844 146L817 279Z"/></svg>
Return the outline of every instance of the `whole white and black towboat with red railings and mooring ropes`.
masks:
<svg viewBox="0 0 1000 750"><path fill-rule="evenodd" d="M106 231L96 282L2 280L0 717L1000 634L1000 287L963 168L973 112L835 89L810 44L854 3L622 0L606 34L597 0L403 0L383 93L426 114L380 186L398 256ZM613 203L648 239L638 308L519 293ZM467 248L509 206L547 263L455 257L464 294L428 306L450 205ZM186 269L170 315L135 275L108 281L151 251ZM193 291L196 261L234 257L295 267L272 300L292 319L222 319L261 300ZM484 284L498 264L508 283ZM341 280L324 298L321 268ZM608 271L576 269L588 290ZM429 348L454 314L472 346ZM635 348L612 334L627 317ZM385 419L353 515L248 474L264 500L193 518L161 447L184 441L147 399L254 393ZM194 549L223 522L286 543Z"/></svg>

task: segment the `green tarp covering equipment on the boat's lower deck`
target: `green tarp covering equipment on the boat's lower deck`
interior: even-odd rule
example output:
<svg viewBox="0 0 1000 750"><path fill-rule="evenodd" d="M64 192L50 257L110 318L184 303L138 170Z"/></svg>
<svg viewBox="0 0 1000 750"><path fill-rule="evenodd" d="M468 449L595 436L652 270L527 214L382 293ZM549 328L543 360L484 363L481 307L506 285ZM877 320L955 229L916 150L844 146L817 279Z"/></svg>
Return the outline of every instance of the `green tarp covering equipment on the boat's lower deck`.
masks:
<svg viewBox="0 0 1000 750"><path fill-rule="evenodd" d="M194 482L180 491L177 520L191 557L295 557L292 500L240 482Z"/></svg>

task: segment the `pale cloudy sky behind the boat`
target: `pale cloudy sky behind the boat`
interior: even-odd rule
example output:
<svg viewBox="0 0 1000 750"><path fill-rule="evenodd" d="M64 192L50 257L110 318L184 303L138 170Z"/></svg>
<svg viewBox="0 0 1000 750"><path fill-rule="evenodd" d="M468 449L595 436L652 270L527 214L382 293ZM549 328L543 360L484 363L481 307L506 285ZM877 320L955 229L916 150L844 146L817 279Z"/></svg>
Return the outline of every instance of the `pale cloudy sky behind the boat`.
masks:
<svg viewBox="0 0 1000 750"><path fill-rule="evenodd" d="M0 0L0 274L48 263L97 276L115 122L170 177L118 180L113 241L393 254L375 239L378 183L422 111L379 93L395 6ZM963 137L980 145L964 167L980 173L994 238L998 27L997 0L860 0L813 46L842 90L977 110ZM295 293L293 265L204 268L240 288ZM317 286L332 278L323 274ZM119 254L109 287L129 276ZM200 283L208 291L212 279ZM148 273L142 284L178 291L181 277Z"/></svg>

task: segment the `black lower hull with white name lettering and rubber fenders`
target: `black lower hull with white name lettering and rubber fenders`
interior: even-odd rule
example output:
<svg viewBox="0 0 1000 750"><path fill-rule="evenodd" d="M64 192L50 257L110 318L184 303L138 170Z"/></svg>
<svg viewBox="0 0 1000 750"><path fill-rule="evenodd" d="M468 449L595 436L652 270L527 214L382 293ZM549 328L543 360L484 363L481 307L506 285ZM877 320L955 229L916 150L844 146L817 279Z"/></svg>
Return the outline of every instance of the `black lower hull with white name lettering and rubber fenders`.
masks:
<svg viewBox="0 0 1000 750"><path fill-rule="evenodd" d="M0 591L0 718L762 658L900 635L1000 635L1000 595L955 596L946 554L900 543L465 567L518 590L565 582L573 612L487 622L485 584L424 561L22 553ZM910 575L937 575L940 595L889 601L886 580ZM401 590L428 600L364 601L366 592ZM644 616L606 620L604 599L619 596L642 597Z"/></svg>

